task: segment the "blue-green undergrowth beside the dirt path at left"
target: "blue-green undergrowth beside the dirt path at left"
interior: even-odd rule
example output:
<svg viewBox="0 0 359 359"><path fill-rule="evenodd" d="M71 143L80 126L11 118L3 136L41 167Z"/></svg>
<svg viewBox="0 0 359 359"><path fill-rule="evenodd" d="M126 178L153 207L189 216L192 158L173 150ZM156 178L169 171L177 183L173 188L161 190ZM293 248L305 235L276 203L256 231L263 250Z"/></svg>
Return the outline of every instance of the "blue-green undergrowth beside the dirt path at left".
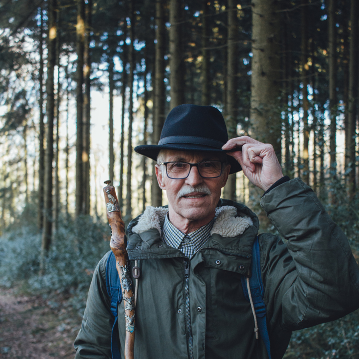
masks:
<svg viewBox="0 0 359 359"><path fill-rule="evenodd" d="M62 221L43 256L41 275L41 235L31 225L14 227L0 237L0 285L23 283L24 289L42 294L75 293L74 303L83 307L93 271L109 250L109 228L89 216Z"/></svg>

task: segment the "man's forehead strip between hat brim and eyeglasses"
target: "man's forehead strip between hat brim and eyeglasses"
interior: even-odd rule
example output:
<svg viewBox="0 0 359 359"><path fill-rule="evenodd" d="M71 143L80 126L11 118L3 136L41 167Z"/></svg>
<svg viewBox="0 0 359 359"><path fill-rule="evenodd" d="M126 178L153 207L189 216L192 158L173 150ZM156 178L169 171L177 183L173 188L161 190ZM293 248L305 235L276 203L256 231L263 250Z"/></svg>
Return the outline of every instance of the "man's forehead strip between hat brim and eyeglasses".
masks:
<svg viewBox="0 0 359 359"><path fill-rule="evenodd" d="M189 162L197 163L201 161L223 161L226 155L218 152L209 151L178 151L178 150L161 150L159 158L163 162Z"/></svg>

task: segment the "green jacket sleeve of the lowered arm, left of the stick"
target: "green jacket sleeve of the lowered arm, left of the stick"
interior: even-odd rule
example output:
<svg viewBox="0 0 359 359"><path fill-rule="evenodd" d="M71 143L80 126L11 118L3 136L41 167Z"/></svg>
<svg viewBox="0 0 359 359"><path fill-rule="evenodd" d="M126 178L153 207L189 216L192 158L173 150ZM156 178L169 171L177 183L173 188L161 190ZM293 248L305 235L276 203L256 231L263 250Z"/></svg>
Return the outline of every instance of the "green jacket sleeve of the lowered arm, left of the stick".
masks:
<svg viewBox="0 0 359 359"><path fill-rule="evenodd" d="M106 290L107 253L98 263L90 285L81 329L75 339L75 359L111 359L114 319Z"/></svg>

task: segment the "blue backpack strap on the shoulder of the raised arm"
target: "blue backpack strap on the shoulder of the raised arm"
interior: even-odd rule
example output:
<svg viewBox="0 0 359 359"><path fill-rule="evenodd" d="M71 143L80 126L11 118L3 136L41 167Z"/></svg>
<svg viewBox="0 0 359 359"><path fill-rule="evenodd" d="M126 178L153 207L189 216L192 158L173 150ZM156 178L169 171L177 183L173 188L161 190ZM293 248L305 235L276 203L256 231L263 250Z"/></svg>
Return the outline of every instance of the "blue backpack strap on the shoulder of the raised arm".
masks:
<svg viewBox="0 0 359 359"><path fill-rule="evenodd" d="M243 293L246 300L249 302L249 295L247 289L246 278L241 276ZM259 252L259 240L256 237L252 247L252 263L251 263L251 277L249 278L249 287L251 289L252 300L257 317L257 323L259 328L259 334L262 337L264 345L267 349L268 358L271 359L270 354L270 341L266 320L266 308L263 301L264 287L262 281L262 272L260 268L260 252Z"/></svg>

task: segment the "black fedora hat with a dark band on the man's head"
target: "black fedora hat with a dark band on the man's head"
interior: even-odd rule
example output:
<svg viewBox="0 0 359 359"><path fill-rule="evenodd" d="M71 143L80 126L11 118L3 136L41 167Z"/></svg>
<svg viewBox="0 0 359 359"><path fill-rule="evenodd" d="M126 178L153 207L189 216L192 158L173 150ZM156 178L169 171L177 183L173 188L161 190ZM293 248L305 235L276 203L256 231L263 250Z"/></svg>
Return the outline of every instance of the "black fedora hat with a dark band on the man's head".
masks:
<svg viewBox="0 0 359 359"><path fill-rule="evenodd" d="M184 104L176 106L167 116L157 146L137 146L135 151L156 161L161 150L226 153L222 146L227 141L227 128L218 109ZM227 155L227 158L231 165L230 174L242 170L233 157Z"/></svg>

